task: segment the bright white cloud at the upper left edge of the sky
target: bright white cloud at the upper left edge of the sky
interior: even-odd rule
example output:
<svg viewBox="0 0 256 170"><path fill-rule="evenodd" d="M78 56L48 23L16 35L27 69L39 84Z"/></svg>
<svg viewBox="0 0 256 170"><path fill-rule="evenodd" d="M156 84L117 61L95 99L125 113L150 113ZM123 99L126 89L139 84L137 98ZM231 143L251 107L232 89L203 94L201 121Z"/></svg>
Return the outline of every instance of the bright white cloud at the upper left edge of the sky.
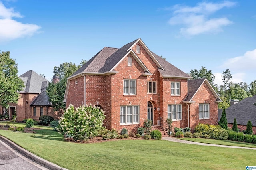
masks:
<svg viewBox="0 0 256 170"><path fill-rule="evenodd" d="M23 24L13 20L14 17L22 18L23 16L13 8L6 8L0 2L0 42L32 36L40 29L36 24Z"/></svg>

